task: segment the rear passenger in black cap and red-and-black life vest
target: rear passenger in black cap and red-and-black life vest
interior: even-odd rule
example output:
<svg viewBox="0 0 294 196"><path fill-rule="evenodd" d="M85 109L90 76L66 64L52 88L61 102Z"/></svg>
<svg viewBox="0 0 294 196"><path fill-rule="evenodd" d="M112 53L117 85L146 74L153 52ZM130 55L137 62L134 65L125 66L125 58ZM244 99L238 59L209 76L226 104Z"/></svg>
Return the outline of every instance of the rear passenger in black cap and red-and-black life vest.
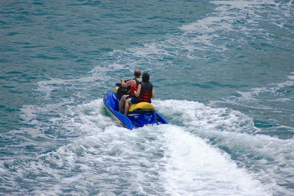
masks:
<svg viewBox="0 0 294 196"><path fill-rule="evenodd" d="M142 81L138 85L138 90L134 91L135 97L128 98L124 106L124 116L127 116L131 104L148 102L151 103L151 98L155 98L155 92L152 83L149 81L149 74L143 73Z"/></svg>

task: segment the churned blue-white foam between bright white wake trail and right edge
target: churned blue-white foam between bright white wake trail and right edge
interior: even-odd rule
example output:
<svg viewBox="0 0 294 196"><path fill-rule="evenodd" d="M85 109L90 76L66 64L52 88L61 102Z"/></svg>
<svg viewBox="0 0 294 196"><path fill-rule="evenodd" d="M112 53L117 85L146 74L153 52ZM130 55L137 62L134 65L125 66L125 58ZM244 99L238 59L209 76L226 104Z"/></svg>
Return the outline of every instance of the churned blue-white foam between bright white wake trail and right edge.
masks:
<svg viewBox="0 0 294 196"><path fill-rule="evenodd" d="M267 135L199 130L193 127L190 129L204 138L218 138L217 146L229 149L234 156L239 155L239 163L255 171L256 179L269 183L272 188L289 194L288 190L277 186L276 183L293 183L293 178L289 175L294 172L292 164L294 158L293 140L280 140Z"/></svg>

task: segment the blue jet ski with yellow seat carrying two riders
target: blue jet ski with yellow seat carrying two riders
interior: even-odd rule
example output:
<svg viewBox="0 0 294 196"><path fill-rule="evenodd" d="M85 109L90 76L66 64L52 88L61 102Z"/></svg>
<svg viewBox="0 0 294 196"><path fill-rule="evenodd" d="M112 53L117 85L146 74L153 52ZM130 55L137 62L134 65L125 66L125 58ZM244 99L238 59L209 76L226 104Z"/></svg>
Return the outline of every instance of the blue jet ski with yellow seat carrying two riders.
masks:
<svg viewBox="0 0 294 196"><path fill-rule="evenodd" d="M121 87L121 83L117 83L116 86L117 87L115 87L113 91L104 95L103 102L108 114L122 123L125 128L133 129L143 126L168 124L168 122L155 111L153 104L148 102L131 104L128 115L124 116L119 112L119 102L122 95L127 93L127 90Z"/></svg>

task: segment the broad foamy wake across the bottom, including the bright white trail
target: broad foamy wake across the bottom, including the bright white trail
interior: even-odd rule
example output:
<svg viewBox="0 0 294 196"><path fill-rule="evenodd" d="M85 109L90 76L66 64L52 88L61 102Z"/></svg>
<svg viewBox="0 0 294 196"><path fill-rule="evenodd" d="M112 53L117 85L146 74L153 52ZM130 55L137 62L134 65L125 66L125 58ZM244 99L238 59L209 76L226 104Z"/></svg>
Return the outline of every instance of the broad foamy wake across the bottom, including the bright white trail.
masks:
<svg viewBox="0 0 294 196"><path fill-rule="evenodd" d="M157 157L157 153L164 156ZM270 195L266 185L238 168L228 154L188 133L186 128L174 125L136 131L109 126L103 132L93 131L92 135L83 135L38 158L38 163L25 164L18 173L48 173L39 179L58 183L47 185L48 191L42 193L45 195L62 194L69 186L87 195L89 187L96 184L101 193L109 195L121 180L128 184L126 195L132 191L174 196ZM48 163L54 168L48 167ZM76 169L79 172L71 171ZM41 190L37 188L34 193Z"/></svg>

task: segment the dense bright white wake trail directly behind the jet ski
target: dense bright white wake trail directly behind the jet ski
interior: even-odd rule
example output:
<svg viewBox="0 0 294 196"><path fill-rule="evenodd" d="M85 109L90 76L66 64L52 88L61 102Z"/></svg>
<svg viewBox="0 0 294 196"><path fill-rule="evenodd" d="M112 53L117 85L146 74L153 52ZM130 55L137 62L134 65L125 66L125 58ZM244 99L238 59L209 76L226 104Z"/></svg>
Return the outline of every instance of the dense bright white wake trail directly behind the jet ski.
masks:
<svg viewBox="0 0 294 196"><path fill-rule="evenodd" d="M165 132L165 188L173 196L268 196L267 188L229 155L176 126Z"/></svg>

